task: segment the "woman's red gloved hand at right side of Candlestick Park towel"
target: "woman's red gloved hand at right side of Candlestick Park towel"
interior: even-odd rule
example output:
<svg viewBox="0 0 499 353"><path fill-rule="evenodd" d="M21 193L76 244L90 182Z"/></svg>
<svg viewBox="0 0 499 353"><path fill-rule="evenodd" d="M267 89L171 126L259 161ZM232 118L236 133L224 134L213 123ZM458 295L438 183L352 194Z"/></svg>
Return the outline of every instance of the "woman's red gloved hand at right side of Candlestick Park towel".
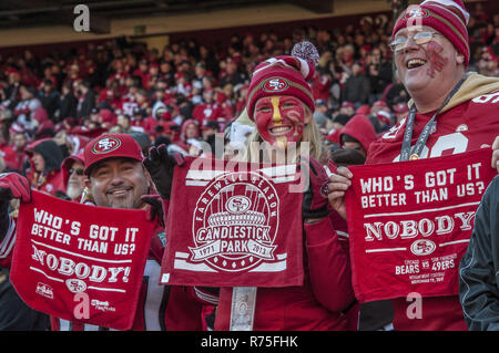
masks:
<svg viewBox="0 0 499 353"><path fill-rule="evenodd" d="M308 178L308 188L304 191L302 215L303 219L318 219L329 215L327 208L328 177L324 167L310 156L301 156L301 168Z"/></svg>

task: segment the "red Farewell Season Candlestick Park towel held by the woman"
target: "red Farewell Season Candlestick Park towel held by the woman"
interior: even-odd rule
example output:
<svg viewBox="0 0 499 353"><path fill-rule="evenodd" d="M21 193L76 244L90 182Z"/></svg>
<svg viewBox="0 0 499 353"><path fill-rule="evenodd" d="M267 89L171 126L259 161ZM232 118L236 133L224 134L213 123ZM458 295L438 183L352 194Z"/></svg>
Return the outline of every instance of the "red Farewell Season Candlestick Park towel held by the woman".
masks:
<svg viewBox="0 0 499 353"><path fill-rule="evenodd" d="M298 166L187 158L176 167L163 284L303 284Z"/></svg>

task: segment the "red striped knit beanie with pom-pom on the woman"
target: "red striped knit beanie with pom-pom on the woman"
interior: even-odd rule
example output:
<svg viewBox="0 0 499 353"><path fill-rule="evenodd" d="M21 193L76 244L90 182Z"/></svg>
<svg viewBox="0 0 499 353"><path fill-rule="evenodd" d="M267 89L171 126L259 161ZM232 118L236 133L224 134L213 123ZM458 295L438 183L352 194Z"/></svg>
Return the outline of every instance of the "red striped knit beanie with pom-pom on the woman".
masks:
<svg viewBox="0 0 499 353"><path fill-rule="evenodd" d="M317 49L309 42L295 44L292 55L267 59L253 71L247 90L247 115L254 121L256 101L271 95L291 95L302 100L314 111L314 94L307 81L318 63Z"/></svg>

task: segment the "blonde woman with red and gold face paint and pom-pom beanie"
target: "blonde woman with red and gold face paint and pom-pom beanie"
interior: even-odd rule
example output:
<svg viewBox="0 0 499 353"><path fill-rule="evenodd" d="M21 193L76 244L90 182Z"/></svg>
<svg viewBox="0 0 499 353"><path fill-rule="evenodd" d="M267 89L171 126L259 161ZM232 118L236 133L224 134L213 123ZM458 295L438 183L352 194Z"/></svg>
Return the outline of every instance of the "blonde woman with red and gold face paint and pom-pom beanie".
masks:
<svg viewBox="0 0 499 353"><path fill-rule="evenodd" d="M307 83L317 60L315 46L302 42L292 55L272 58L255 68L246 111L256 128L242 153L245 160L254 163L301 163L301 168L306 168L309 183L302 208L304 283L291 288L221 288L215 330L233 329L237 316L233 298L246 298L249 305L254 304L254 315L244 330L352 330L349 319L357 314L357 305L349 260L329 217L324 168L329 157L313 118L314 98Z"/></svg>

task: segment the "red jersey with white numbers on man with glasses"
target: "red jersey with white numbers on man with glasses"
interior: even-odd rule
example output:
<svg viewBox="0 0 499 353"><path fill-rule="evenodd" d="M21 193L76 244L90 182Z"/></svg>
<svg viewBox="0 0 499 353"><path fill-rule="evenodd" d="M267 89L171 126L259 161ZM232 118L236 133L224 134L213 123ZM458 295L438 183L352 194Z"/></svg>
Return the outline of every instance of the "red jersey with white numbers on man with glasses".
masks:
<svg viewBox="0 0 499 353"><path fill-rule="evenodd" d="M482 144L491 146L495 137L499 135L499 105L495 101L499 91L464 102L439 114L436 132L429 135L421 158L469 152L480 148ZM416 114L411 145L416 143L432 114L434 112ZM405 123L406 118L370 145L366 164L390 163L399 159ZM424 298L422 319L407 318L407 308L413 303L407 302L406 298L394 300L396 330L467 330L458 295Z"/></svg>

